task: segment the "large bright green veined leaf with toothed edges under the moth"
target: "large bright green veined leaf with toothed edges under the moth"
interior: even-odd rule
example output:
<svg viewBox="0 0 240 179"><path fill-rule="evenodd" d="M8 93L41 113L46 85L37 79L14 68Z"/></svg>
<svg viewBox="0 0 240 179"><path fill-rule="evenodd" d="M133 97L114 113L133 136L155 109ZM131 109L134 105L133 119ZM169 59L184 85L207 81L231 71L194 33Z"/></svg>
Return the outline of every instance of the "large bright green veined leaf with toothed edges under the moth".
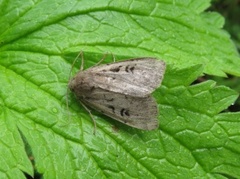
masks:
<svg viewBox="0 0 240 179"><path fill-rule="evenodd" d="M214 81L192 84L204 73L240 76L223 18L203 12L209 0L0 3L0 178L34 170L44 178L240 177L240 113L223 112L238 94ZM68 111L80 51L85 67L107 52L116 60L163 59L167 71L153 94L159 129L133 129L92 111L94 136L72 94Z"/></svg>

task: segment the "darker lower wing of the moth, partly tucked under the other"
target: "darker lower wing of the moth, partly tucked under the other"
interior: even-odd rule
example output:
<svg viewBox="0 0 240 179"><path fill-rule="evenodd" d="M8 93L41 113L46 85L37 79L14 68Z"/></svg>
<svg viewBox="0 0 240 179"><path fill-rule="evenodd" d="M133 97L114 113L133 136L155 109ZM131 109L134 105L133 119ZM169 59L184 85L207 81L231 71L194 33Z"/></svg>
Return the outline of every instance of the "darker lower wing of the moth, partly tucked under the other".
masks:
<svg viewBox="0 0 240 179"><path fill-rule="evenodd" d="M97 89L81 101L97 111L134 128L143 130L158 128L157 103L151 96L139 98Z"/></svg>

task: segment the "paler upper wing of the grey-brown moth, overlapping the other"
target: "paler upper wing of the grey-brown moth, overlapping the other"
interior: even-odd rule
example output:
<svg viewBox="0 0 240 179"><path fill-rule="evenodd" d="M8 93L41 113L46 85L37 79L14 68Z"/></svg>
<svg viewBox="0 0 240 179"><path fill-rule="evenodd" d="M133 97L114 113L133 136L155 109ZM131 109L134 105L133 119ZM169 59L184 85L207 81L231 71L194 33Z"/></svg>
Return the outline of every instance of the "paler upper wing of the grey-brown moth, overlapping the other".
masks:
<svg viewBox="0 0 240 179"><path fill-rule="evenodd" d="M131 96L144 97L160 86L165 72L164 61L137 58L89 68L95 87Z"/></svg>

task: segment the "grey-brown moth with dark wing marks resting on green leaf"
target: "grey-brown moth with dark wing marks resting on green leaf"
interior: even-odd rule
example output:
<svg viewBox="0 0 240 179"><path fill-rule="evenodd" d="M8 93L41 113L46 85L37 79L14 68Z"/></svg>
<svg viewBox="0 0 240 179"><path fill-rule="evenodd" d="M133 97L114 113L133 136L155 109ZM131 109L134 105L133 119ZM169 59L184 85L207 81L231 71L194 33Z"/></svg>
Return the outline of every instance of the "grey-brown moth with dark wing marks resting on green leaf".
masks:
<svg viewBox="0 0 240 179"><path fill-rule="evenodd" d="M89 106L128 126L158 128L158 107L151 93L160 86L166 65L155 58L134 58L80 70L68 84Z"/></svg>

